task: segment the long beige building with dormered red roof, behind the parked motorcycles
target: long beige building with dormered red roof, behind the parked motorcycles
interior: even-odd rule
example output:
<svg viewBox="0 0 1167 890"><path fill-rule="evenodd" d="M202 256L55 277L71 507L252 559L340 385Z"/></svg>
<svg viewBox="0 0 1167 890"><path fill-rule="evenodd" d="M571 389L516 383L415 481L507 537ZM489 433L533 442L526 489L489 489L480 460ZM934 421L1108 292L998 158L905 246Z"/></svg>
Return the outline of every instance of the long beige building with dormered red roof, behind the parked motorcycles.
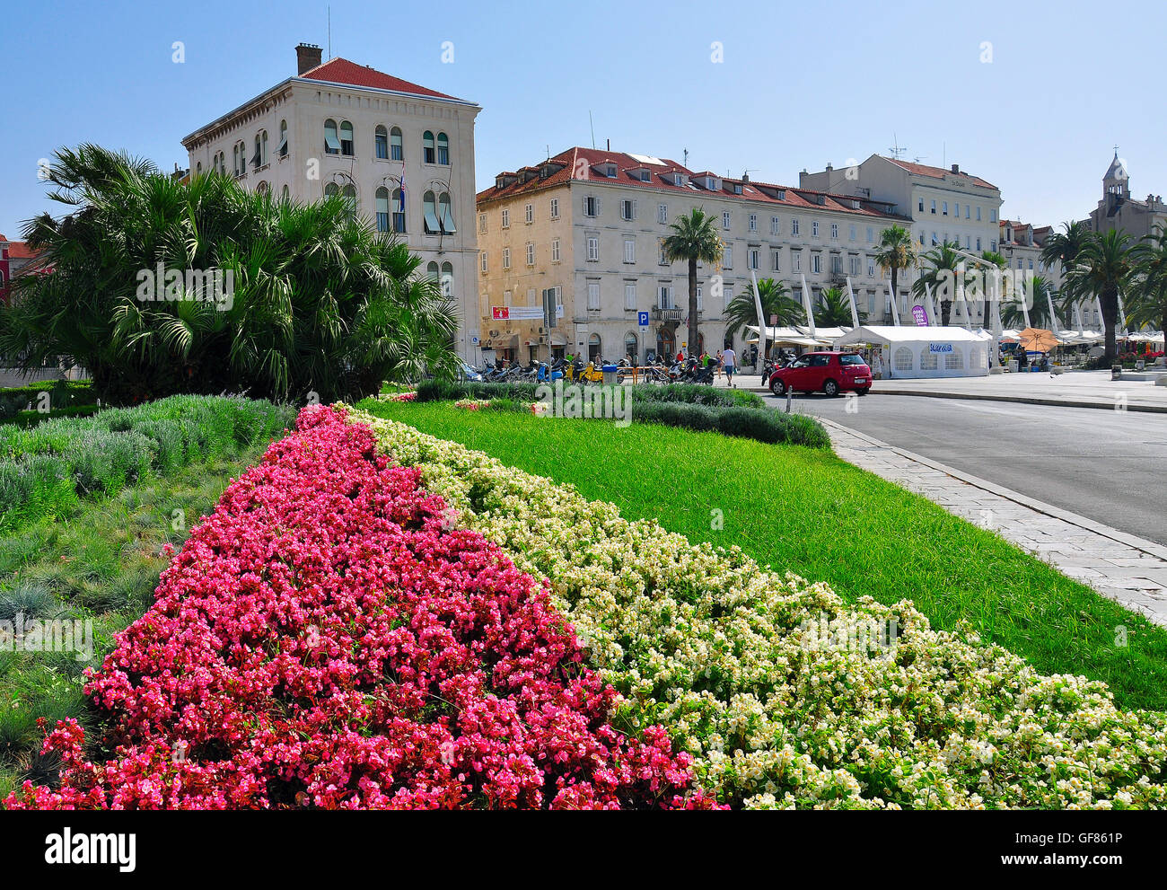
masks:
<svg viewBox="0 0 1167 890"><path fill-rule="evenodd" d="M721 265L698 270L696 348L722 348L725 307L752 271L797 299L805 277L812 300L825 287L845 290L850 277L859 308L883 317L874 250L885 228L908 222L888 204L569 148L499 173L478 193L483 347L520 361L574 353L644 362L689 350L687 266L669 263L662 242L694 207L717 220L725 242Z"/></svg>

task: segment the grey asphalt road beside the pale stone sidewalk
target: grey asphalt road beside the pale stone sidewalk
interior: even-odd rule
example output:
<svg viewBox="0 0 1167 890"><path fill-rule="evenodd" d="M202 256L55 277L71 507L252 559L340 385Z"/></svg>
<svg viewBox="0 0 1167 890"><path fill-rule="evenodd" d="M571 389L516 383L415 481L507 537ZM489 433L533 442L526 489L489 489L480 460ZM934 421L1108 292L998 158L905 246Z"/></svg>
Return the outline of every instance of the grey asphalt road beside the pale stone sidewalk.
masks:
<svg viewBox="0 0 1167 890"><path fill-rule="evenodd" d="M785 399L767 401L785 406ZM869 395L794 410L1167 544L1167 415Z"/></svg>

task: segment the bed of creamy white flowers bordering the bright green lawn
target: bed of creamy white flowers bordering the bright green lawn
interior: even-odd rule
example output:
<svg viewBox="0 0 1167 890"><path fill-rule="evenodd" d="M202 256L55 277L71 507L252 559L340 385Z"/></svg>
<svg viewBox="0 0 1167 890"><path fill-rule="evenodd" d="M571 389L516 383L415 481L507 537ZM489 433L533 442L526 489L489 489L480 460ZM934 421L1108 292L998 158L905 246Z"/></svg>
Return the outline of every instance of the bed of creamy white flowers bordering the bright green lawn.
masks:
<svg viewBox="0 0 1167 890"><path fill-rule="evenodd" d="M747 807L1161 807L1167 715L1114 708L1105 683L1042 676L910 602L847 604L693 545L612 503L362 411L397 461L469 528L546 577L616 725L659 722L703 780ZM893 649L839 646L895 620ZM825 624L824 624L825 623ZM864 639L860 637L860 639Z"/></svg>

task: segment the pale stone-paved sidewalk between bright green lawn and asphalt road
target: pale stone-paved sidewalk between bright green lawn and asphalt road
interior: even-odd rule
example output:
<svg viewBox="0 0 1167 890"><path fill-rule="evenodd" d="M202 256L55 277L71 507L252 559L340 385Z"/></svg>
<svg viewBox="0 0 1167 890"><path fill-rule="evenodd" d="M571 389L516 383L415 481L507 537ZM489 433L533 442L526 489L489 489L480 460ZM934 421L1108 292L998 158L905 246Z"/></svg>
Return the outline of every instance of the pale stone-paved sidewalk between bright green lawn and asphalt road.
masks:
<svg viewBox="0 0 1167 890"><path fill-rule="evenodd" d="M844 460L997 531L1063 575L1167 626L1167 547L820 419Z"/></svg>

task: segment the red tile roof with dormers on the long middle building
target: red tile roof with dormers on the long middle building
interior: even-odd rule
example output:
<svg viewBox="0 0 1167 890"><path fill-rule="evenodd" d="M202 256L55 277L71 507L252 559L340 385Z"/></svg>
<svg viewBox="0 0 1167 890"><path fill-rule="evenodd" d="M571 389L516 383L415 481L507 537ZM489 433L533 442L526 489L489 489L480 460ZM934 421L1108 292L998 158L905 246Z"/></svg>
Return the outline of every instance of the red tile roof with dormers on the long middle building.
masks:
<svg viewBox="0 0 1167 890"><path fill-rule="evenodd" d="M644 155L641 155L644 157ZM780 207L790 208L816 208L820 210L834 210L838 213L850 213L859 214L864 216L878 216L882 218L907 218L896 216L895 214L885 213L878 209L885 202L869 202L866 200L860 200L846 195L834 195L825 192L813 192L811 189L798 188L797 186L777 186L769 182L754 182L748 180L733 179L727 176L720 176L711 171L701 171L694 173L673 160L668 158L656 158L655 160L659 164L654 164L651 161L642 161L631 154L624 154L622 152L610 152L601 148L568 148L565 152L560 152L553 158L548 158L543 164L533 165L531 167L524 167L523 169L540 171L546 165L552 165L552 172L548 176L539 179L534 176L524 182L522 179L511 182L510 185L499 188L497 185L490 188L483 189L476 196L478 203L484 203L488 201L497 201L499 199L513 197L516 195L530 194L534 192L540 192L547 188L554 188L557 186L562 186L572 180L588 180L596 181L600 183L605 182L619 182L622 186L637 186L640 188L652 188L664 192L677 192L684 193L686 195L700 195L700 194L715 194L719 197L736 199L741 201L750 201L759 203L775 204ZM603 164L615 164L616 175L615 178L605 176L595 171L596 167ZM558 169L553 169L558 167ZM645 182L636 176L629 175L629 171L649 169L652 175L649 181ZM575 176L576 172L584 172L585 175ZM687 176L690 182L694 182L704 176L713 176L721 180L721 189L711 192L708 189L701 188L698 185L673 185L671 180L665 179L666 174L680 173L683 176ZM513 176L513 173L501 173L499 176ZM733 186L740 185L742 187L742 193L740 195L734 194ZM782 197L778 197L778 193L783 193ZM810 201L805 195L823 195L824 202L822 204ZM859 207L852 206L852 202L858 201Z"/></svg>

